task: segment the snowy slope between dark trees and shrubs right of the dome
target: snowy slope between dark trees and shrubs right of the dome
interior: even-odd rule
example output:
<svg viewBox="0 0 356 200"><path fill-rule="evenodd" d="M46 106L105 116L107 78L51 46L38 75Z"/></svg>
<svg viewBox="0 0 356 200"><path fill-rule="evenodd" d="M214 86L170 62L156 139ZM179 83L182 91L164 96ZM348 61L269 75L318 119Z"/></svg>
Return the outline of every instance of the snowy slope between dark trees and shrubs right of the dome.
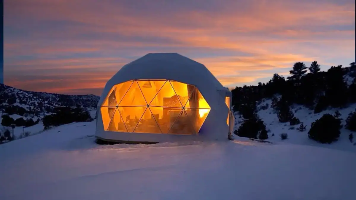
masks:
<svg viewBox="0 0 356 200"><path fill-rule="evenodd" d="M300 122L303 122L304 126L306 126L305 127L306 130L303 132L297 130L300 124L290 126L289 122L286 123L279 122L276 111L274 111L270 107L270 105L271 105L271 99L264 99L261 102L261 104L257 106L257 110L258 110L257 114L265 122L266 128L268 130L267 141L271 141L273 143L281 143L281 144L293 143L293 144L302 144L302 145L310 145L310 146L320 146L320 147L356 152L356 145L354 144L354 142L351 143L348 137L349 134L352 132L345 129L345 127L341 128L341 134L339 140L332 144L320 144L308 138L308 131L310 130L312 122L314 122L317 119L320 119L320 117L323 116L324 114L328 113L334 115L335 111L339 111L341 114L340 118L342 119L342 125L345 125L346 117L349 115L350 112L355 111L356 104L353 104L344 109L334 108L334 109L325 110L318 114L314 114L313 110L310 110L304 106L300 106L300 105L291 106L291 110L294 112L294 116L300 119ZM237 130L237 128L242 123L242 116L239 115L238 112L235 112L235 118L236 118L235 130ZM280 137L281 133L287 133L288 138L286 140L282 140ZM274 134L274 136L272 136L272 134Z"/></svg>

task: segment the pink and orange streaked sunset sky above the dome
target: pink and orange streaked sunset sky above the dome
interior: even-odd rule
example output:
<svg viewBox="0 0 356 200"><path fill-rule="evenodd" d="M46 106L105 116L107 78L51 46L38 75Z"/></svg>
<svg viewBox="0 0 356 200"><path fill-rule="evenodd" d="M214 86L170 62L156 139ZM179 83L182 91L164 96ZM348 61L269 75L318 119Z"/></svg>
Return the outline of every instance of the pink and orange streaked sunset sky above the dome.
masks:
<svg viewBox="0 0 356 200"><path fill-rule="evenodd" d="M5 0L5 84L100 95L124 64L177 52L227 87L295 62L355 62L355 0Z"/></svg>

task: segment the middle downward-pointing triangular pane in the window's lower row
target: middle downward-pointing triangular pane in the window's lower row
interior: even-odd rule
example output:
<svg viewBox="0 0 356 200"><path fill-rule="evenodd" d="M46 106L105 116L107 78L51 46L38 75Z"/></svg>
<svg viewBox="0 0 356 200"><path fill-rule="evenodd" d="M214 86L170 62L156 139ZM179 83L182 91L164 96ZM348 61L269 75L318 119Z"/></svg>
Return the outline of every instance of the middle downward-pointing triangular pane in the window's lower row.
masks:
<svg viewBox="0 0 356 200"><path fill-rule="evenodd" d="M177 117L182 112L182 108L175 107L149 107L153 117L155 117L159 128L162 133L168 133L173 123L177 120Z"/></svg>

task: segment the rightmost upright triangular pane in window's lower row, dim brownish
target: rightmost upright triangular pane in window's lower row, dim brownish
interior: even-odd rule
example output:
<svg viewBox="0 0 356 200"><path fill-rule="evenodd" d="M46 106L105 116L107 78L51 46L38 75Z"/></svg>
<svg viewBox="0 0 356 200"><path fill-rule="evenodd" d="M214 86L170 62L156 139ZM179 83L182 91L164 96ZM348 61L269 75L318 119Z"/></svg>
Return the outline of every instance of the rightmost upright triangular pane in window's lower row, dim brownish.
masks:
<svg viewBox="0 0 356 200"><path fill-rule="evenodd" d="M168 134L179 134L179 135L195 135L196 132L190 119L184 110L180 112L177 120L173 123L171 129L168 131Z"/></svg>

